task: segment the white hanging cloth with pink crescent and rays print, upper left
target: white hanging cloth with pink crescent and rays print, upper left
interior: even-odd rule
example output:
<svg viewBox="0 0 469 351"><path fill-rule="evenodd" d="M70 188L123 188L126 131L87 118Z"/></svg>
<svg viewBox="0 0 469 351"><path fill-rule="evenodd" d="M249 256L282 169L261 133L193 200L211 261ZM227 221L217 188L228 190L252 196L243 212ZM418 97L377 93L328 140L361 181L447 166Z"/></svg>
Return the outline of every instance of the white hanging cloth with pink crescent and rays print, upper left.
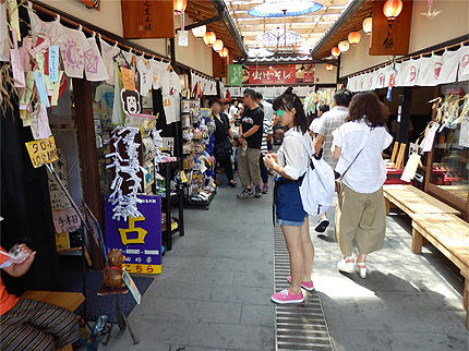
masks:
<svg viewBox="0 0 469 351"><path fill-rule="evenodd" d="M65 74L69 77L83 78L83 71L85 69L83 50L83 45L86 43L85 35L81 27L80 29L71 29L60 23L57 26L60 31L58 41Z"/></svg>

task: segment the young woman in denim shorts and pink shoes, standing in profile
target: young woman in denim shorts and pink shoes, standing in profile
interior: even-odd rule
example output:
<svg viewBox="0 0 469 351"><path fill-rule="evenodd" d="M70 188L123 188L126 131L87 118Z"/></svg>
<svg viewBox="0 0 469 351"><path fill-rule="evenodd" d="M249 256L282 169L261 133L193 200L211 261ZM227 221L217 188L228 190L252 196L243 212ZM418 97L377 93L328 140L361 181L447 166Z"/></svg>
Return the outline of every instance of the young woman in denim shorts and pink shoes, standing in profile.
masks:
<svg viewBox="0 0 469 351"><path fill-rule="evenodd" d="M274 110L280 118L280 124L287 126L288 131L278 154L267 154L264 164L277 173L274 190L276 219L281 226L290 255L291 276L288 281L291 286L273 294L270 299L276 303L300 303L304 300L301 288L314 290L311 280L314 247L299 189L310 158L300 138L310 143L311 149L313 147L303 105L290 88L274 101Z"/></svg>

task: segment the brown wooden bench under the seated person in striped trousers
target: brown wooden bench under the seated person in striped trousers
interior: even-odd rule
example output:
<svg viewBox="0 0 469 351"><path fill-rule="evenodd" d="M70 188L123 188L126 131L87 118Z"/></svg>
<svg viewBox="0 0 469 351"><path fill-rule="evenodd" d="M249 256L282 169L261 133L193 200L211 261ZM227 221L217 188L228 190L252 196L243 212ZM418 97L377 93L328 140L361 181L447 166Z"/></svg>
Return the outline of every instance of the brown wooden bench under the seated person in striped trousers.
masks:
<svg viewBox="0 0 469 351"><path fill-rule="evenodd" d="M60 306L67 308L69 311L75 311L79 306L85 301L85 296L80 292L58 292L58 291L36 291L28 290L25 291L22 295L22 299L29 299L35 301L47 302L53 304L56 306ZM63 351L70 351L72 349L72 344L68 344L63 347Z"/></svg>

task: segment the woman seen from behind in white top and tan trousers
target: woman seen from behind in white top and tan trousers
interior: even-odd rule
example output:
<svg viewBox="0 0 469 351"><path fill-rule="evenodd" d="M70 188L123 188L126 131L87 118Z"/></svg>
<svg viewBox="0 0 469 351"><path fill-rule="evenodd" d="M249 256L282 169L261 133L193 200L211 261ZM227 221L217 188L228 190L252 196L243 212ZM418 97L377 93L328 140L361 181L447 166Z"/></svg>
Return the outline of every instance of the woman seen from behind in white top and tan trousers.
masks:
<svg viewBox="0 0 469 351"><path fill-rule="evenodd" d="M371 92L353 96L346 123L334 133L333 156L342 183L336 209L335 237L344 258L341 271L366 277L366 255L383 247L386 213L383 184L386 170L382 153L393 142L384 125L387 112ZM352 257L352 242L359 256Z"/></svg>

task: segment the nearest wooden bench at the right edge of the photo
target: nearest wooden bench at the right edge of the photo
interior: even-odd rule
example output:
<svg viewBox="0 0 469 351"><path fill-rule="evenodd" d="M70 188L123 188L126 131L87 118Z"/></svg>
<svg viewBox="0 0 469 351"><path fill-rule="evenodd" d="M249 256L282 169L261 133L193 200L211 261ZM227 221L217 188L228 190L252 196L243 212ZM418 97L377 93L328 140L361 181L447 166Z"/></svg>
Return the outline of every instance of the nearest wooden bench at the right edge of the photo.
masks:
<svg viewBox="0 0 469 351"><path fill-rule="evenodd" d="M412 218L412 252L422 252L424 240L448 257L465 277L462 305L468 311L469 223L452 214L414 214ZM469 330L469 316L466 315Z"/></svg>

